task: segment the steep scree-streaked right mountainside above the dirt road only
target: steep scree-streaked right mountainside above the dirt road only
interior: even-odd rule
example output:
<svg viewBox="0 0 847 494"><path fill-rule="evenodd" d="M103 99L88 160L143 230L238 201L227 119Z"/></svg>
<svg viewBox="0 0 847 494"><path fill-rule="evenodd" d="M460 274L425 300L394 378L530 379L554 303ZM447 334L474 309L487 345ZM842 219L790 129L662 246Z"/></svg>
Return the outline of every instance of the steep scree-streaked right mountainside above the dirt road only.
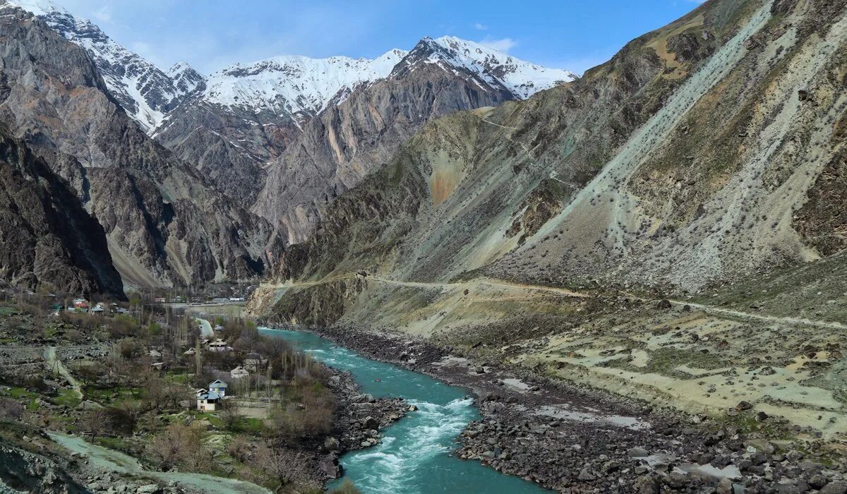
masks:
<svg viewBox="0 0 847 494"><path fill-rule="evenodd" d="M278 277L698 291L839 251L844 13L706 3L566 86L435 120Z"/></svg>

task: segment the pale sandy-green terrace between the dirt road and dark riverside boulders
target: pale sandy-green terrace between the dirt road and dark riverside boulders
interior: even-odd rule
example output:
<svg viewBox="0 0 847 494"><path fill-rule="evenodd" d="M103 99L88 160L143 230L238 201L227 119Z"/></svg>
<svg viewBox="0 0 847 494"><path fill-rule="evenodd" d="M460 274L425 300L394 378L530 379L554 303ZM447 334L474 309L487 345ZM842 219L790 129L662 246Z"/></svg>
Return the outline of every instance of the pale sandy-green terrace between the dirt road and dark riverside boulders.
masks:
<svg viewBox="0 0 847 494"><path fill-rule="evenodd" d="M761 310L767 301L744 309L718 297L712 305L709 297L666 299L590 286L356 277L363 287L347 296L337 325L421 337L689 414L736 417L736 408L747 402L746 415L787 420L794 436L847 440L841 347L847 325L814 319L816 314L768 314ZM289 305L273 310L303 321L307 314L287 301L329 303L324 301L337 295L345 279L264 286L251 308L267 308L285 295Z"/></svg>

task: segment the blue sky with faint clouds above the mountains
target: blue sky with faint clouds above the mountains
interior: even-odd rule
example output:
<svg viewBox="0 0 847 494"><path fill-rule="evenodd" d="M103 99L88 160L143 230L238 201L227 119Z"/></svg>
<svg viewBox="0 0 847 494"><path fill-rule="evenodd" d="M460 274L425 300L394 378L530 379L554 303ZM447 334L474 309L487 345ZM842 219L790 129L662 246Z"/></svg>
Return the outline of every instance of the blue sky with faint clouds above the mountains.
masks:
<svg viewBox="0 0 847 494"><path fill-rule="evenodd" d="M373 58L424 36L485 42L536 64L581 73L697 0L58 0L162 68L204 73L274 55Z"/></svg>

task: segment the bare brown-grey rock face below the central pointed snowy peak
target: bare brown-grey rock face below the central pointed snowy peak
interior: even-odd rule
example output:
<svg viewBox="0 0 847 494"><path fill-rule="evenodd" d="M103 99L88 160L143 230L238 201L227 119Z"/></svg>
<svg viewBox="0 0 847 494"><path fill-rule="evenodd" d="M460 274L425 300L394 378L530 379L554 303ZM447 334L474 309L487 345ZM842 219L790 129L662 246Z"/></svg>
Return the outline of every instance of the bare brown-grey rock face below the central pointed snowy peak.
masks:
<svg viewBox="0 0 847 494"><path fill-rule="evenodd" d="M418 56L421 45L407 58ZM326 203L386 163L429 119L514 98L505 88L483 85L477 75L446 64L398 65L390 77L309 121L268 167L253 210L274 221L285 241L305 240Z"/></svg>

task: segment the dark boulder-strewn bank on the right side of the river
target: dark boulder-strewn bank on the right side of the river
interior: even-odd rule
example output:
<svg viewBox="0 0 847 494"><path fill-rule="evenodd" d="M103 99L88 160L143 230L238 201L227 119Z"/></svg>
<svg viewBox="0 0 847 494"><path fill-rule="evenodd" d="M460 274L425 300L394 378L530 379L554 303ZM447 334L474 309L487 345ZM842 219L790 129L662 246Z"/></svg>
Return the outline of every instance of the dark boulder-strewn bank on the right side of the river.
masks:
<svg viewBox="0 0 847 494"><path fill-rule="evenodd" d="M688 416L477 362L429 341L354 328L315 332L468 387L483 419L462 433L457 455L557 491L847 491L839 452L793 441L767 415Z"/></svg>

